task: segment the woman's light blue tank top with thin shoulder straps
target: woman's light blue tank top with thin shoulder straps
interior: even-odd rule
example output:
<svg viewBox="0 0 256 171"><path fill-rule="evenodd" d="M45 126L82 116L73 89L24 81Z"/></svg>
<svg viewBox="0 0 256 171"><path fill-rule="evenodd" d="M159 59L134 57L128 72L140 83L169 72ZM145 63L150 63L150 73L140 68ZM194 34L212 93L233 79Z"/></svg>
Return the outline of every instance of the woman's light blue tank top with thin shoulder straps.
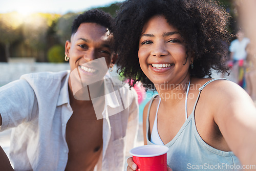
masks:
<svg viewBox="0 0 256 171"><path fill-rule="evenodd" d="M239 159L233 152L224 152L208 145L200 137L197 132L195 123L195 109L200 97L201 91L204 87L217 79L212 79L206 82L199 88L199 94L194 105L194 109L186 119L181 129L174 137L174 139L165 146L169 148L167 153L167 164L173 171L184 170L242 170ZM156 96L155 96L156 97ZM146 139L147 144L154 144L148 139L148 116L154 98L148 106L147 120L146 120Z"/></svg>

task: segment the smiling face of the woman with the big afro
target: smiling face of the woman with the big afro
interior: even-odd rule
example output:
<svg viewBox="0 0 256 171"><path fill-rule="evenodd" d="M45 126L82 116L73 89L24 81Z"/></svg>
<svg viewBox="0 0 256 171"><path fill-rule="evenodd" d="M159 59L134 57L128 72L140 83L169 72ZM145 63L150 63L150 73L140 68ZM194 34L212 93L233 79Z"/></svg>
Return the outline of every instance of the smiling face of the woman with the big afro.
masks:
<svg viewBox="0 0 256 171"><path fill-rule="evenodd" d="M191 57L184 39L163 15L145 23L139 40L139 62L144 74L156 84L179 84L189 75ZM185 65L184 65L185 64Z"/></svg>

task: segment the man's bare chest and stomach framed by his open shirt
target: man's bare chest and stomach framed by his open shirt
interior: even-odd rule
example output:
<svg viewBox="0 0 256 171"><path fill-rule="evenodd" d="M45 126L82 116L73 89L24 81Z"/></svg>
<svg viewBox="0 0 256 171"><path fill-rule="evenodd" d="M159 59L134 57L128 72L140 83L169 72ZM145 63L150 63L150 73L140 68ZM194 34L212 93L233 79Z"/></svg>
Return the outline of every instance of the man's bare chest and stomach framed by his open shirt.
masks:
<svg viewBox="0 0 256 171"><path fill-rule="evenodd" d="M69 147L67 166L93 168L102 151L102 124L92 108L75 109L67 123L66 141Z"/></svg>

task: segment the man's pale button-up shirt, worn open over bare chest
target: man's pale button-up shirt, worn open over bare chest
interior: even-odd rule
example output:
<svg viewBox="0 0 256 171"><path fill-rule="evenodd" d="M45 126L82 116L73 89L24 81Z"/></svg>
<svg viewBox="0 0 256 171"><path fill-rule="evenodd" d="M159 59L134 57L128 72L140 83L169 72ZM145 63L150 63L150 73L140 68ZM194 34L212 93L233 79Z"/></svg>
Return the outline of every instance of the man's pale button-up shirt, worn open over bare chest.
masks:
<svg viewBox="0 0 256 171"><path fill-rule="evenodd" d="M69 71L26 74L0 88L1 131L14 127L9 156L15 170L65 170L66 125L73 114L69 75ZM105 79L104 89L114 90L118 85L109 80ZM125 85L104 98L103 149L94 170L124 170L125 154L137 137L137 93ZM118 108L122 110L112 115Z"/></svg>

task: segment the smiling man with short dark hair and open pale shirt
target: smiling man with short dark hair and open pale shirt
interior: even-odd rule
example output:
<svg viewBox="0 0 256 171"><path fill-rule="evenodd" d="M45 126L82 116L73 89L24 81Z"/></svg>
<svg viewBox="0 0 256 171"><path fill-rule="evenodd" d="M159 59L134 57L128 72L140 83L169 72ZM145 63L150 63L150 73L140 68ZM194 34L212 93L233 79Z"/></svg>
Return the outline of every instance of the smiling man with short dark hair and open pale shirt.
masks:
<svg viewBox="0 0 256 171"><path fill-rule="evenodd" d="M111 23L99 10L79 15L65 47L71 72L26 74L0 89L1 130L14 127L14 169L124 169L136 137L138 99L106 74L117 58ZM2 148L0 154L0 169L12 170Z"/></svg>

